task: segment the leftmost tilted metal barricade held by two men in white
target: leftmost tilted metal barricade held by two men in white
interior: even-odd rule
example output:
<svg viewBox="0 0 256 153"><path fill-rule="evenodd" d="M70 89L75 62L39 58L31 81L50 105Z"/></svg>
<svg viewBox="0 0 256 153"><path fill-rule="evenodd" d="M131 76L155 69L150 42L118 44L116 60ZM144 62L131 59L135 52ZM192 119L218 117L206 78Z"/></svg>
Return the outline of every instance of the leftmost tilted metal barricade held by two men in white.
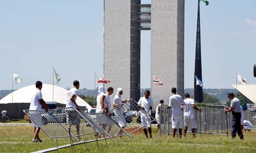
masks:
<svg viewBox="0 0 256 153"><path fill-rule="evenodd" d="M79 141L80 136L97 131L107 134L89 115L73 107L44 110L23 110L30 119L53 140L53 138L72 137Z"/></svg>

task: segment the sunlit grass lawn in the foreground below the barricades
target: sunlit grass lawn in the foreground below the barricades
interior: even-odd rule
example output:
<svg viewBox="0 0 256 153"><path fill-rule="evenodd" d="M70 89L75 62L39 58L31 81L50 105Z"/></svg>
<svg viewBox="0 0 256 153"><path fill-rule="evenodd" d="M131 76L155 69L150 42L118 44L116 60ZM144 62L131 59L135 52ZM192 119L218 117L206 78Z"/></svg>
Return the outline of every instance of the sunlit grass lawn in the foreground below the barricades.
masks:
<svg viewBox="0 0 256 153"><path fill-rule="evenodd" d="M34 152L56 146L56 141L52 141L43 131L40 132L42 143L33 143L33 127L23 126L0 126L0 152ZM256 130L244 132L245 140L238 137L231 139L231 136L197 134L196 138L187 135L186 138L168 138L153 128L153 139L146 139L142 130L129 137L114 138L99 141L99 149L96 142L74 146L75 152L256 152ZM93 134L88 135L88 140L93 138ZM68 144L64 138L58 139L59 145ZM57 151L55 151L57 152ZM70 148L61 149L60 152L71 152Z"/></svg>

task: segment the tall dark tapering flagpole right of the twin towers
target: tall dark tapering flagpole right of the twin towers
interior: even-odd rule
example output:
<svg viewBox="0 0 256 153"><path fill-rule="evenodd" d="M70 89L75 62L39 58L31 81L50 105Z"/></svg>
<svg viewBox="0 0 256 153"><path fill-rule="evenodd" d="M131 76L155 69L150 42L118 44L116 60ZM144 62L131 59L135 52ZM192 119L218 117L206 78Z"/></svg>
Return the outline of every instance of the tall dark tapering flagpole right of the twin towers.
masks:
<svg viewBox="0 0 256 153"><path fill-rule="evenodd" d="M201 81L202 79L202 62L201 62L201 34L200 34L200 0L198 0L197 9L197 30L196 30L196 58L195 58L195 72ZM194 77L194 76L193 76ZM196 102L203 102L203 87L196 85L196 78L194 78L194 100Z"/></svg>

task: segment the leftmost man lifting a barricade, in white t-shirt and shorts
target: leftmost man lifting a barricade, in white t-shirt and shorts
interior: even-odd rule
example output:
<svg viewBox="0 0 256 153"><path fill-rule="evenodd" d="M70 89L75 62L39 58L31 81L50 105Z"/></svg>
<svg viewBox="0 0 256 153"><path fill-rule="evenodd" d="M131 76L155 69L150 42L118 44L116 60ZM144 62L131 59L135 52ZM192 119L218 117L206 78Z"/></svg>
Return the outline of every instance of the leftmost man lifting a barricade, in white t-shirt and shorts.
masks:
<svg viewBox="0 0 256 153"><path fill-rule="evenodd" d="M41 89L42 89L42 82L37 81L36 90L34 90L31 97L29 110L41 110L41 106L43 106L45 108L45 111L51 111L47 106L47 104L45 103L44 99L42 99ZM37 118L36 120L37 123L31 120L31 123L34 127L34 133L35 133L34 138L32 139L32 142L43 142L43 140L39 138L39 132L42 126L42 119L41 119L42 116L41 114L33 114L33 115L34 117Z"/></svg>

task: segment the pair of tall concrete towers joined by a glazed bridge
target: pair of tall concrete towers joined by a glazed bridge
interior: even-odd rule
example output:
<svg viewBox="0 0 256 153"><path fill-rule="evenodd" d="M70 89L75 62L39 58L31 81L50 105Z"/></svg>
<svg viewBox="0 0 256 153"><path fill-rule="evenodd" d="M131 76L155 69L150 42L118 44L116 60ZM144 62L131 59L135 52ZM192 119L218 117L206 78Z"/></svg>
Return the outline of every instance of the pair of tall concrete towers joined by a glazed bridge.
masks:
<svg viewBox="0 0 256 153"><path fill-rule="evenodd" d="M105 87L121 87L122 99L140 99L141 30L151 30L151 74L164 83L152 85L155 109L172 87L184 93L184 0L104 0Z"/></svg>

